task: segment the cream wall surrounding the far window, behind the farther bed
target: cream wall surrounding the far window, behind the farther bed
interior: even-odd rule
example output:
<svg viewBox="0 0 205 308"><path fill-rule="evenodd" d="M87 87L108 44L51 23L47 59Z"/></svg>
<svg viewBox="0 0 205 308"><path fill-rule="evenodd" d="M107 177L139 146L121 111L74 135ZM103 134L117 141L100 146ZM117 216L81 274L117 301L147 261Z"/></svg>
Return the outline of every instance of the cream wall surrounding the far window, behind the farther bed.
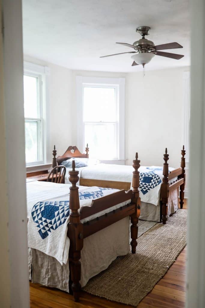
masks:
<svg viewBox="0 0 205 308"><path fill-rule="evenodd" d="M189 67L146 71L143 77L142 68L138 73L79 71L29 56L24 60L50 67L50 153L53 144L58 155L71 144L81 148L77 144L76 76L124 77L126 164L132 164L138 152L141 164L162 165L167 147L170 165L179 167L183 145L182 77Z"/></svg>

